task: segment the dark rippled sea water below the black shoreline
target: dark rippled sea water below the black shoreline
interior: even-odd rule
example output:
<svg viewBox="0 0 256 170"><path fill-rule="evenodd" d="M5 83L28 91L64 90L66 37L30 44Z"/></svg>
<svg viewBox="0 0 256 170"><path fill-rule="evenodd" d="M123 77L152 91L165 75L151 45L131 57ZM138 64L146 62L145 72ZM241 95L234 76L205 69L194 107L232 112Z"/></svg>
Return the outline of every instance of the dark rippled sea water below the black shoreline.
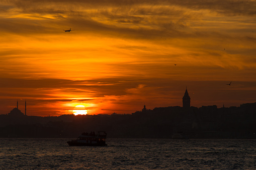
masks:
<svg viewBox="0 0 256 170"><path fill-rule="evenodd" d="M0 169L256 169L255 139L67 140L0 138Z"/></svg>

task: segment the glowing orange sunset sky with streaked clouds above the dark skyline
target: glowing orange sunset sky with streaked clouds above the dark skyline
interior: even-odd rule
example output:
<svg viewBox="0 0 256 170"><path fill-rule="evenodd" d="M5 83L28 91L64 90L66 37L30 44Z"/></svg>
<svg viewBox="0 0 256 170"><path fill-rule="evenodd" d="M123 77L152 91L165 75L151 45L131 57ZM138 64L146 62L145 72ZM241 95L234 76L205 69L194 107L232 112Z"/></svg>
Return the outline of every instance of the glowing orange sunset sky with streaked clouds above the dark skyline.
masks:
<svg viewBox="0 0 256 170"><path fill-rule="evenodd" d="M0 114L256 102L253 0L2 0L0 25Z"/></svg>

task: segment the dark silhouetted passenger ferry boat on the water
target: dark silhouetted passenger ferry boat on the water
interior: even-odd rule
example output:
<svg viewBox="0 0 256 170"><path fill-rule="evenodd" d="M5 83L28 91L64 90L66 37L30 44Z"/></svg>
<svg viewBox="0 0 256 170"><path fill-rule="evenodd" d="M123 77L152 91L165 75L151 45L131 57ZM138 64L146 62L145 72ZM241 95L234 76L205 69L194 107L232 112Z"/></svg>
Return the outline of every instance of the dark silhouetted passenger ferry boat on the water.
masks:
<svg viewBox="0 0 256 170"><path fill-rule="evenodd" d="M98 134L83 132L77 139L67 141L67 143L69 146L107 146L106 138L105 131L99 131Z"/></svg>

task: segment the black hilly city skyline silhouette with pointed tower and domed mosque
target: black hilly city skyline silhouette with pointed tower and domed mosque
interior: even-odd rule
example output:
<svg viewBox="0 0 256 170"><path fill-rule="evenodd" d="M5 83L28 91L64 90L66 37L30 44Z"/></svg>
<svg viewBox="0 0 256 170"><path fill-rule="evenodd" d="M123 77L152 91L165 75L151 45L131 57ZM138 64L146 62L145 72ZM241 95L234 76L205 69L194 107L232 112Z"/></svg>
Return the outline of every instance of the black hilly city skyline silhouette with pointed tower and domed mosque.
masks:
<svg viewBox="0 0 256 170"><path fill-rule="evenodd" d="M256 102L239 107L193 107L186 89L183 107L146 106L131 114L29 116L17 107L0 115L0 137L74 138L84 131L101 131L109 138L256 138Z"/></svg>

